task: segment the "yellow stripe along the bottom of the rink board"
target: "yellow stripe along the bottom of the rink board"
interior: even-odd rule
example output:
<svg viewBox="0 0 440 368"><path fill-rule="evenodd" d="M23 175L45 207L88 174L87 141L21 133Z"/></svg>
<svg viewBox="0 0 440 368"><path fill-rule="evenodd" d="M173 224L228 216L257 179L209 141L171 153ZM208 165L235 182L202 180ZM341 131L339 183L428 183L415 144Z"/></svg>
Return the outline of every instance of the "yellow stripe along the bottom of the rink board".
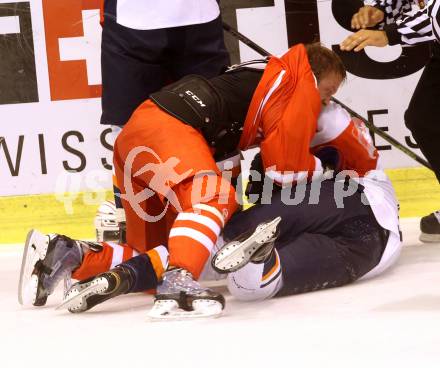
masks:
<svg viewBox="0 0 440 368"><path fill-rule="evenodd" d="M400 201L401 217L420 217L440 209L440 185L425 168L386 170ZM0 197L0 244L22 243L29 229L93 239L93 219L112 192Z"/></svg>

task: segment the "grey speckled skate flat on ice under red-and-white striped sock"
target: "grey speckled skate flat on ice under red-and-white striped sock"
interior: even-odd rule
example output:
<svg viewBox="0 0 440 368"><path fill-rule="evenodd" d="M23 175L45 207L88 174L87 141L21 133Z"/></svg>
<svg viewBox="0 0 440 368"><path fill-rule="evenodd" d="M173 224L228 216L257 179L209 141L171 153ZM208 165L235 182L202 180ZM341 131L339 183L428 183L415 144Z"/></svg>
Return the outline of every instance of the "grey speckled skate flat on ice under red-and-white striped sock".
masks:
<svg viewBox="0 0 440 368"><path fill-rule="evenodd" d="M218 317L224 307L223 295L202 287L188 271L175 268L165 272L148 316L151 320Z"/></svg>

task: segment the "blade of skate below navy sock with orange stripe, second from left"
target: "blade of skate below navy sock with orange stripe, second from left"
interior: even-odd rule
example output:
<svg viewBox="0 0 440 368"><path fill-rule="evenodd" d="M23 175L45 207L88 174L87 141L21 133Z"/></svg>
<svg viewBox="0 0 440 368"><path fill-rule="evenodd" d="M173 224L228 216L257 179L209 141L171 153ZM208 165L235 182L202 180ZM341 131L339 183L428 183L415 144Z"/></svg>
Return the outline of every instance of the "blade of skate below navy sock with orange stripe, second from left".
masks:
<svg viewBox="0 0 440 368"><path fill-rule="evenodd" d="M55 310L68 309L72 313L83 312L87 308L86 298L89 295L101 294L108 288L108 281L103 277L92 280L88 284L73 285ZM79 287L81 289L78 289Z"/></svg>

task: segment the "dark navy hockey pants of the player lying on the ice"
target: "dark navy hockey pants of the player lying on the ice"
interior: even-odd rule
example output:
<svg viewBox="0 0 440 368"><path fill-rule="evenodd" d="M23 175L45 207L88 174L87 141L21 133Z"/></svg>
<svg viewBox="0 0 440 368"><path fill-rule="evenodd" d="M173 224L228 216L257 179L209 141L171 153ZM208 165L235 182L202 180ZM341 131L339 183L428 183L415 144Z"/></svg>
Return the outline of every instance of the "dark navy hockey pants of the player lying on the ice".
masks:
<svg viewBox="0 0 440 368"><path fill-rule="evenodd" d="M309 184L297 205L284 204L278 191L271 204L237 213L226 225L225 238L232 239L244 229L281 216L275 246L284 285L278 295L345 285L379 263L387 231L377 223L370 206L361 202L359 191L344 199L344 208L338 208L334 187L333 181L323 182L317 204L308 203Z"/></svg>

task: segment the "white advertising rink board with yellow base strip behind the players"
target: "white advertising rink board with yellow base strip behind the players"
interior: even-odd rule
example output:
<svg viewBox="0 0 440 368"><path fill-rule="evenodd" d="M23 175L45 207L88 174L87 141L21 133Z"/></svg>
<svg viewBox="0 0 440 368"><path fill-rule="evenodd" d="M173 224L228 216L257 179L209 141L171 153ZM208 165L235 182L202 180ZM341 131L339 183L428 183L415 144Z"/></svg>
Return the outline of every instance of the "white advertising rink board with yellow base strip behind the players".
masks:
<svg viewBox="0 0 440 368"><path fill-rule="evenodd" d="M319 38L338 52L350 31L334 11L343 0L222 0L226 22L273 54ZM93 216L110 198L112 148L99 125L100 0L0 0L0 243L30 227L93 237ZM230 36L232 60L260 57ZM340 53L347 81L337 98L414 149L403 114L422 72L424 52L367 48ZM380 93L378 93L378 91ZM401 202L401 215L440 208L427 170L373 136ZM414 167L414 169L407 169Z"/></svg>

